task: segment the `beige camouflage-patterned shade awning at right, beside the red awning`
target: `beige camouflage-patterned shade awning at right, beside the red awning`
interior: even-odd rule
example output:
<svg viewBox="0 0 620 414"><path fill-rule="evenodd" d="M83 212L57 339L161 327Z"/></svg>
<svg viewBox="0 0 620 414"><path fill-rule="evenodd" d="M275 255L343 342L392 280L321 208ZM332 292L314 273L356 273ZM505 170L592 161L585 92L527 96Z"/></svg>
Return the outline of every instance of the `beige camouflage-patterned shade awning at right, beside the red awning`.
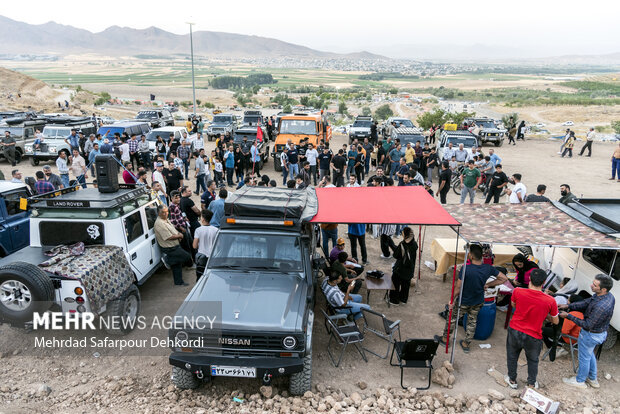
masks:
<svg viewBox="0 0 620 414"><path fill-rule="evenodd" d="M469 243L620 249L620 241L591 229L551 203L446 206Z"/></svg>

